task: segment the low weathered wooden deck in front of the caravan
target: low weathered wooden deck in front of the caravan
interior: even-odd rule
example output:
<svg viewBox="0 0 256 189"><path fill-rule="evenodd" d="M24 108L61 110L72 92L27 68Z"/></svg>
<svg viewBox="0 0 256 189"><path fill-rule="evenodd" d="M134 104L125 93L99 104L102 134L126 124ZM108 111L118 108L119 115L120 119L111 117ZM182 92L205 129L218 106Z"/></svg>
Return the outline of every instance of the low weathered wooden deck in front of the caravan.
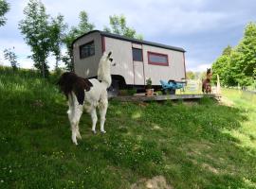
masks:
<svg viewBox="0 0 256 189"><path fill-rule="evenodd" d="M128 101L163 101L163 100L178 100L178 99L200 99L204 96L208 96L210 98L219 99L221 97L220 94L165 94L165 95L154 95L154 96L146 96L146 95L119 95L113 97L113 99L118 99L119 101L128 102Z"/></svg>

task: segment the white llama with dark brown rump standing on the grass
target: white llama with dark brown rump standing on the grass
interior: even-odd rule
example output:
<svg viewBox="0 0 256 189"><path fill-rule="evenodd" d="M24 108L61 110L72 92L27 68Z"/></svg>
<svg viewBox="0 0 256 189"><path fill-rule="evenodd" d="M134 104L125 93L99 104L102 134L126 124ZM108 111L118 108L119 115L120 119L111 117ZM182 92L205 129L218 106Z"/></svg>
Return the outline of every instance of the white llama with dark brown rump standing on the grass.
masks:
<svg viewBox="0 0 256 189"><path fill-rule="evenodd" d="M104 123L108 108L107 88L111 85L111 65L115 66L111 52L104 53L98 68L98 79L86 79L78 77L74 73L64 73L58 84L61 91L68 99L68 119L72 130L72 142L78 145L77 138L82 139L79 131L79 122L83 109L90 113L92 119L92 131L96 133L98 121L96 109L98 107L101 115L101 133L105 133Z"/></svg>

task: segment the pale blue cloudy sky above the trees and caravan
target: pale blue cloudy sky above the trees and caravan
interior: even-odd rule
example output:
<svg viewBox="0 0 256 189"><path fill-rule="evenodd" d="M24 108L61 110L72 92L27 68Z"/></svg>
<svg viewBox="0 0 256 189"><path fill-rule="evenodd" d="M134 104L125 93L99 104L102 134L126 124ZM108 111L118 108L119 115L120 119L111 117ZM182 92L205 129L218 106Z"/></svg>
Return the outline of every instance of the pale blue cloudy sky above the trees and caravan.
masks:
<svg viewBox="0 0 256 189"><path fill-rule="evenodd" d="M21 67L33 67L30 48L18 23L25 17L28 0L7 0L10 10L0 27L0 65L9 65L3 50L12 48ZM206 71L228 46L243 37L244 28L256 21L255 0L42 0L46 13L64 15L68 26L77 26L85 10L96 29L108 26L109 15L123 14L144 40L182 47L186 50L187 71ZM50 68L54 58L49 58Z"/></svg>

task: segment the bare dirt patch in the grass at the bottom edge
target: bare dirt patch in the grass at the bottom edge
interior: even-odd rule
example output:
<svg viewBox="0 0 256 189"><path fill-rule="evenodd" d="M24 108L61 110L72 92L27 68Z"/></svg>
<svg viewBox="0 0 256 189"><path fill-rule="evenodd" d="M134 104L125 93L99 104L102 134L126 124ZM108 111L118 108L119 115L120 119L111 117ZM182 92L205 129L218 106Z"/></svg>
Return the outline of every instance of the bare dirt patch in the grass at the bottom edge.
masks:
<svg viewBox="0 0 256 189"><path fill-rule="evenodd" d="M156 176L150 180L138 180L131 186L131 189L173 189L163 176Z"/></svg>

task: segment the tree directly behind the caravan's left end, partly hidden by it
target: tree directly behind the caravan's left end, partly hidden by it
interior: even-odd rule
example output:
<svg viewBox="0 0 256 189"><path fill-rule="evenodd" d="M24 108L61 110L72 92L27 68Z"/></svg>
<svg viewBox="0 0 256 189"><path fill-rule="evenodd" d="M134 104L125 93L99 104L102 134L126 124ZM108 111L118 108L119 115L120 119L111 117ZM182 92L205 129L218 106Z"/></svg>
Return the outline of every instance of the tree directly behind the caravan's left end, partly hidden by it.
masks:
<svg viewBox="0 0 256 189"><path fill-rule="evenodd" d="M63 57L63 61L66 65L67 70L74 70L74 62L73 62L73 50L72 43L82 34L89 32L94 29L94 24L89 23L88 15L85 11L81 11L79 14L80 23L78 26L72 26L69 32L64 37L64 44L66 46L66 54Z"/></svg>

